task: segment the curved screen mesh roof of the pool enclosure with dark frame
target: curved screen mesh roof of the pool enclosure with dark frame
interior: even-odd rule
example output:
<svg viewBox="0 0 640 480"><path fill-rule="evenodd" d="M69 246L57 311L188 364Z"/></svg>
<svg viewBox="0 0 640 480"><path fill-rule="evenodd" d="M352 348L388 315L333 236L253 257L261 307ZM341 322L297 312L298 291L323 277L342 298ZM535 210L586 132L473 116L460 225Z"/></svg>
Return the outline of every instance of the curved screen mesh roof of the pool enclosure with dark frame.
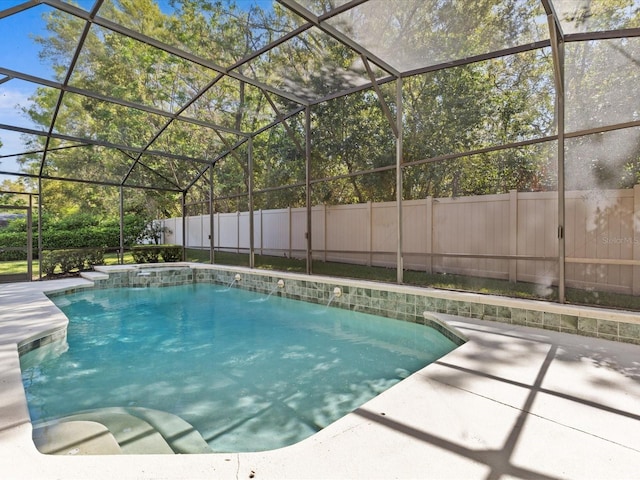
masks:
<svg viewBox="0 0 640 480"><path fill-rule="evenodd" d="M2 0L0 175L183 191L307 106L555 41L637 37L639 10L637 0ZM69 151L93 168L61 177Z"/></svg>

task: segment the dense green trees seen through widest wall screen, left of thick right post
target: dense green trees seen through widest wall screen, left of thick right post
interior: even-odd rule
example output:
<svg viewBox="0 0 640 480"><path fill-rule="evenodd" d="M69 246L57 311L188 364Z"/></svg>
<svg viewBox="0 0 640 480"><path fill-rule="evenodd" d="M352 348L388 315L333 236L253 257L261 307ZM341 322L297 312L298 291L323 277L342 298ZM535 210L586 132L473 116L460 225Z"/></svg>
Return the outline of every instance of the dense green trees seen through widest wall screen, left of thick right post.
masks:
<svg viewBox="0 0 640 480"><path fill-rule="evenodd" d="M528 52L440 70L405 82L405 198L481 195L550 184L549 156L537 146L437 160L454 153L551 135L551 64Z"/></svg>

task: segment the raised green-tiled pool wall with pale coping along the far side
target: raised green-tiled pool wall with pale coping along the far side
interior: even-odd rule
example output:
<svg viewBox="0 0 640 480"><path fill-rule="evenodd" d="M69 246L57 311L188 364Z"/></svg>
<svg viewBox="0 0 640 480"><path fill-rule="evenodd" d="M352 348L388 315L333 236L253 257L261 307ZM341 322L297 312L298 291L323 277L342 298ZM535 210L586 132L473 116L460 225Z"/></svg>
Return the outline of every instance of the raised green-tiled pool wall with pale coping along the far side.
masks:
<svg viewBox="0 0 640 480"><path fill-rule="evenodd" d="M265 294L273 291L273 295L325 305L331 300L335 307L425 323L458 342L462 335L452 332L450 327L445 328L431 314L445 313L640 345L640 317L631 312L398 285L378 286L341 278L305 278L215 265L97 267L96 270L98 273L89 277L96 288L233 283L234 288ZM234 282L236 275L240 275L240 281ZM284 281L283 288L277 287L278 280ZM336 287L340 288L341 295L332 299Z"/></svg>

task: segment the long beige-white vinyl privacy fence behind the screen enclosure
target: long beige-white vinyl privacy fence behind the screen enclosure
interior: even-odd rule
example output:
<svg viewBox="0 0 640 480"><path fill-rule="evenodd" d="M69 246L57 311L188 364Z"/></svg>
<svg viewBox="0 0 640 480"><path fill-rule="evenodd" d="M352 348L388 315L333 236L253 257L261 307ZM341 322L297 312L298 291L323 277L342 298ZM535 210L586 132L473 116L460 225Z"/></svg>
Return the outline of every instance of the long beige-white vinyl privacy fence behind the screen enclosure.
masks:
<svg viewBox="0 0 640 480"><path fill-rule="evenodd" d="M556 283L555 192L405 201L404 267L485 278ZM259 210L257 254L305 258L306 209ZM395 202L312 208L313 258L395 267ZM568 286L640 293L640 186L565 194ZM248 252L249 213L214 216L216 249ZM188 217L186 245L209 248L209 216ZM182 244L182 219L164 221L165 243Z"/></svg>

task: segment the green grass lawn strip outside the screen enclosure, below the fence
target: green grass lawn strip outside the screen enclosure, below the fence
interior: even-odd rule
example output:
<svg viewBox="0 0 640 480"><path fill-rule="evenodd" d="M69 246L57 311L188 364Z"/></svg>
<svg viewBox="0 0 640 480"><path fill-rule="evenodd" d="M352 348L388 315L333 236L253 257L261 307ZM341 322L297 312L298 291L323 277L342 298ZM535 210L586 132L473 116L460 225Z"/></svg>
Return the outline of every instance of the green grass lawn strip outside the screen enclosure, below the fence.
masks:
<svg viewBox="0 0 640 480"><path fill-rule="evenodd" d="M117 253L108 253L104 256L106 265L119 263ZM187 249L186 260L189 262L209 263L207 250ZM134 263L130 253L124 256L125 264ZM231 266L249 266L249 255L242 253L216 252L215 263ZM255 255L256 268L283 272L306 272L304 260L286 257L273 257ZM317 275L329 275L343 278L357 278L378 282L395 283L396 270L394 268L368 267L366 265L353 265L347 263L314 261L313 273ZM38 263L34 262L34 279L38 278ZM26 261L0 262L0 275L23 274L27 271ZM414 270L404 272L404 282L407 285L418 287L432 287L443 290L458 290L466 292L503 295L516 298L530 298L537 300L555 301L557 299L557 287L544 287L525 282L509 282L506 280L494 280L464 275L428 274ZM640 298L632 295L623 295L610 292L591 292L585 290L566 289L567 302L580 305L597 305L626 310L640 311Z"/></svg>

